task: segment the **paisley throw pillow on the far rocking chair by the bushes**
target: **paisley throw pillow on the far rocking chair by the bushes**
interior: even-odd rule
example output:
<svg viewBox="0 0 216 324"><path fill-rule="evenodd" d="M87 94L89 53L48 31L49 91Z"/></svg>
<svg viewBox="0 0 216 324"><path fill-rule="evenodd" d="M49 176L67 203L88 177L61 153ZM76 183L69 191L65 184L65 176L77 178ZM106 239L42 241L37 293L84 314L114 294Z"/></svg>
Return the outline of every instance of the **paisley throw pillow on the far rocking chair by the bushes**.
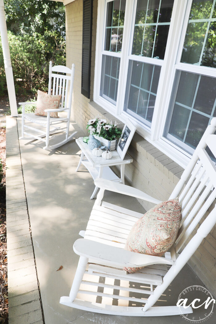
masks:
<svg viewBox="0 0 216 324"><path fill-rule="evenodd" d="M62 95L52 96L38 90L38 98L37 98L35 115L47 116L47 112L45 112L44 110L59 108L61 98ZM58 112L51 112L50 117L58 118Z"/></svg>

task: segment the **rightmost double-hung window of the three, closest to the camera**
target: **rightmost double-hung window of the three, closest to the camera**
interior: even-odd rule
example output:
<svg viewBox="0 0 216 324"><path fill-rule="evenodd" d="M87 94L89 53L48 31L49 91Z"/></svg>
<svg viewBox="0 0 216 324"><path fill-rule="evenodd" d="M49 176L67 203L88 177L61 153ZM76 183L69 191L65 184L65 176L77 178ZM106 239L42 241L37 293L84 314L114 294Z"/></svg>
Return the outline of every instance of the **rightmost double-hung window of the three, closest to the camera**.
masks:
<svg viewBox="0 0 216 324"><path fill-rule="evenodd" d="M216 117L215 2L192 1L183 47L174 68L164 136L189 153Z"/></svg>

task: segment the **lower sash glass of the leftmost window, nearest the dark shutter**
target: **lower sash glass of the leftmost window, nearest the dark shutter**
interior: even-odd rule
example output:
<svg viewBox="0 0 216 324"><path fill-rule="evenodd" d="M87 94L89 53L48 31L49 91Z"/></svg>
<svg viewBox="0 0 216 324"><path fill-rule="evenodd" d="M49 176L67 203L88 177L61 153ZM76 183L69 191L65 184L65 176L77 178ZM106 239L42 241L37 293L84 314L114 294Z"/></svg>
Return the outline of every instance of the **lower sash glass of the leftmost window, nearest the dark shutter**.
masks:
<svg viewBox="0 0 216 324"><path fill-rule="evenodd" d="M100 83L100 96L112 103L116 103L119 84L120 58L103 55Z"/></svg>

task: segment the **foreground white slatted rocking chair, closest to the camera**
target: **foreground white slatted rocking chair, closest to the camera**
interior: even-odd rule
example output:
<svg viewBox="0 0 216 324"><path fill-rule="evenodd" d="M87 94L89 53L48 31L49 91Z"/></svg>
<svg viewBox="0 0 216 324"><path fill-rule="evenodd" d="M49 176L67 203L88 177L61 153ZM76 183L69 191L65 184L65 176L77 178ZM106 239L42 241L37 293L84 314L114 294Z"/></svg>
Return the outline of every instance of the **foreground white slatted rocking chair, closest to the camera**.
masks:
<svg viewBox="0 0 216 324"><path fill-rule="evenodd" d="M61 304L112 315L166 316L192 313L191 307L185 309L183 306L153 305L216 223L216 168L205 150L208 145L216 157L215 128L216 118L213 118L170 196L170 199L179 197L182 219L176 242L164 257L125 250L129 231L142 214L110 203L101 204L105 190L155 204L160 201L123 184L105 179L95 180L100 191L86 231L80 232L84 238L74 243L74 252L80 255L80 260L70 295L61 297ZM211 212L206 217L210 205ZM202 224L194 231L200 221ZM142 266L145 267L132 274L122 270L123 267Z"/></svg>

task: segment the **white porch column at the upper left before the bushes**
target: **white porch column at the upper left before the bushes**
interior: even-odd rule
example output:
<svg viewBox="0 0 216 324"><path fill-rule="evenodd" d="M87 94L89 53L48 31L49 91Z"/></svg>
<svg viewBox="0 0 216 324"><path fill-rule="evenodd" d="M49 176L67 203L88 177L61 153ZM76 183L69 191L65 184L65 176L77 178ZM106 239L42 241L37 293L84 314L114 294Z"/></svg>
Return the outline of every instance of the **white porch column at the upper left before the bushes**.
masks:
<svg viewBox="0 0 216 324"><path fill-rule="evenodd" d="M9 50L9 44L7 38L4 0L0 0L0 33L1 33L1 40L2 40L4 63L5 63L5 74L6 74L6 82L7 82L7 92L8 92L9 103L10 103L10 111L11 111L11 116L15 117L18 116L17 101L15 95L13 70L12 70L11 60L10 60L10 50Z"/></svg>

